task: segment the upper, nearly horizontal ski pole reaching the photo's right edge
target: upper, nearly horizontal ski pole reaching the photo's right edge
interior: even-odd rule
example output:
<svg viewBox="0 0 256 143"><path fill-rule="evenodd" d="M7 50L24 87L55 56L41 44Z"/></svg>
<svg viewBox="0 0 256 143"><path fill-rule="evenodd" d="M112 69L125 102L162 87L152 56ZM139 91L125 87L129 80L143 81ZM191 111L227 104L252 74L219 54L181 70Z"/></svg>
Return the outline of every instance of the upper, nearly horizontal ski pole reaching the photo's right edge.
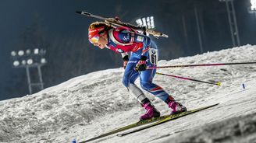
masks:
<svg viewBox="0 0 256 143"><path fill-rule="evenodd" d="M206 66L217 66L217 65L247 65L247 64L256 64L256 62L200 64L200 65L169 65L169 66L160 66L160 67L148 67L148 69L155 69L155 68L206 67Z"/></svg>

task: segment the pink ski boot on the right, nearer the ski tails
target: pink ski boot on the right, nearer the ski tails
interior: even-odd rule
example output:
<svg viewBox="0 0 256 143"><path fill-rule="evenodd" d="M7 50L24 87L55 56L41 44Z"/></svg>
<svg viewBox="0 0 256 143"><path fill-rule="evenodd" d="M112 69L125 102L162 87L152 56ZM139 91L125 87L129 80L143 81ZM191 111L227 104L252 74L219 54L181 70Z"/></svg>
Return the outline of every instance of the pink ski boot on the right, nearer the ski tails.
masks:
<svg viewBox="0 0 256 143"><path fill-rule="evenodd" d="M169 96L169 98L166 99L165 103L167 103L169 108L172 109L170 113L171 115L187 111L187 108L183 106L181 103L176 102L175 99L172 98L172 96Z"/></svg>

